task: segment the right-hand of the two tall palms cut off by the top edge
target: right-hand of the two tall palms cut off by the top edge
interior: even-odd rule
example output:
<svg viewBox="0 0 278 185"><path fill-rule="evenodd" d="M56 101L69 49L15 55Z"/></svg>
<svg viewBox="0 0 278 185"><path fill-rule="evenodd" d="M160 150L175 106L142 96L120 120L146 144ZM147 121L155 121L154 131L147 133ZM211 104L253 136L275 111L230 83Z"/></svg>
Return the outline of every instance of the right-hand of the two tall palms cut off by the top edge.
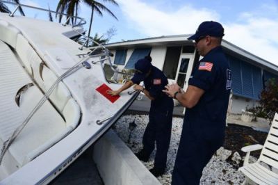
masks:
<svg viewBox="0 0 278 185"><path fill-rule="evenodd" d="M115 0L102 0L102 1L113 3L115 6L118 6L118 4ZM105 11L108 14L110 14L112 17L117 19L117 17L111 12L111 10L109 10L106 6L104 6L104 4L99 3L99 1L82 0L82 2L84 2L86 5L90 6L90 8L92 9L91 17L90 17L90 26L89 26L89 31L88 31L88 37L90 37L90 32L91 32L91 29L92 29L92 18L94 17L94 12L95 11L97 11L97 13L101 17L103 16L102 12ZM81 0L60 0L58 2L58 6L57 6L56 11L58 13L66 13L67 18L70 17L70 16L73 16L73 15L77 16L78 15L79 3L81 3ZM56 14L56 17L57 17L57 14ZM61 21L61 19L62 19L62 15L59 15L59 22ZM73 22L74 22L74 19L72 18L72 23ZM67 24L68 24L68 22L67 22Z"/></svg>

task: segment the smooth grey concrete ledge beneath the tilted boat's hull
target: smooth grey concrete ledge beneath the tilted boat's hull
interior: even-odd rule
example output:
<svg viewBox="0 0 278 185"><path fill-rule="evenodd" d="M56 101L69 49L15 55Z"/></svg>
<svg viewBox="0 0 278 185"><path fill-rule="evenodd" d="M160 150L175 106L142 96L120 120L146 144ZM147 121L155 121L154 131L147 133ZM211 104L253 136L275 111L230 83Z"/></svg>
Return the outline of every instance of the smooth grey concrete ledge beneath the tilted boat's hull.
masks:
<svg viewBox="0 0 278 185"><path fill-rule="evenodd" d="M161 184L112 130L95 143L93 158L106 185Z"/></svg>

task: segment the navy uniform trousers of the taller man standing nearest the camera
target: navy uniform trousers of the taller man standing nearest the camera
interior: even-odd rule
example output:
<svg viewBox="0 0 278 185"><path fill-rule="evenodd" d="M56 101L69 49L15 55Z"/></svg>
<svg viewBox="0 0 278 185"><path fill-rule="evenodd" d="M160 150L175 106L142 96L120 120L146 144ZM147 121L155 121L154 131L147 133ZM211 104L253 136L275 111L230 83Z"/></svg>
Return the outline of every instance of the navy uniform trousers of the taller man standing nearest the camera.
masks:
<svg viewBox="0 0 278 185"><path fill-rule="evenodd" d="M224 141L224 133L209 130L206 132L208 133L204 134L199 130L198 133L196 129L190 130L183 125L172 185L199 184L203 168Z"/></svg>

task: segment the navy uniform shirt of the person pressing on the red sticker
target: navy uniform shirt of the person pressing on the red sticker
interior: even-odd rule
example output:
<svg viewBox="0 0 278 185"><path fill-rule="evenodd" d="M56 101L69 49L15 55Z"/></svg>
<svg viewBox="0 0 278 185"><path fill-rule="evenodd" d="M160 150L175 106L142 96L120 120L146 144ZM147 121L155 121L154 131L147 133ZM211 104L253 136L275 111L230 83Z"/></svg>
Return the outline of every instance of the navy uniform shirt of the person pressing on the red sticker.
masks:
<svg viewBox="0 0 278 185"><path fill-rule="evenodd" d="M131 81L137 84L140 83L140 81L137 81L135 78L131 79ZM152 66L151 74L144 79L146 90L149 91L151 97L154 97L154 100L151 102L151 112L172 110L174 104L172 98L162 92L167 84L168 80L165 74L163 74L161 70L158 70L157 67Z"/></svg>

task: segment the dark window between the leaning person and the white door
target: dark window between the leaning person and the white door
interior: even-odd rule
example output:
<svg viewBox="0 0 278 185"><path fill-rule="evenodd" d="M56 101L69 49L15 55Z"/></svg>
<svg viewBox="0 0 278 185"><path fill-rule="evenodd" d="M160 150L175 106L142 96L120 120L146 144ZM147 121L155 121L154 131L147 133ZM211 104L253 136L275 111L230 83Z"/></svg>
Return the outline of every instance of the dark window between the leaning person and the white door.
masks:
<svg viewBox="0 0 278 185"><path fill-rule="evenodd" d="M181 56L181 47L167 47L163 72L168 79L175 79Z"/></svg>

